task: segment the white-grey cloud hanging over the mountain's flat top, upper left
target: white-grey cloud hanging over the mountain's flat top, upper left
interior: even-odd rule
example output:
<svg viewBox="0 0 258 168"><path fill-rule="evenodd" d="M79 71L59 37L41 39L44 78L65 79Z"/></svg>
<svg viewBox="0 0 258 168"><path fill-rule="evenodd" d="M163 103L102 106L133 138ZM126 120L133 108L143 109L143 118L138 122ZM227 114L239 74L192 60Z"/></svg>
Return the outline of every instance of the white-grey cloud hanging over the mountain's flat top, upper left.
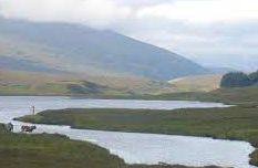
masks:
<svg viewBox="0 0 258 168"><path fill-rule="evenodd" d="M65 21L109 27L131 15L132 9L112 0L0 0L6 18Z"/></svg>

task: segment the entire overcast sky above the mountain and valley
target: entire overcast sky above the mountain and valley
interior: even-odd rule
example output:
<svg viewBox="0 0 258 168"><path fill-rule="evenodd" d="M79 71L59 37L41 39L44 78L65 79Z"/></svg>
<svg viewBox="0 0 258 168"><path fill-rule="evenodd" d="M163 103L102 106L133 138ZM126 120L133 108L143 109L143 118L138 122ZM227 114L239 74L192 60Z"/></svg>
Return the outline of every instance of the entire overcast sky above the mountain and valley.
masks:
<svg viewBox="0 0 258 168"><path fill-rule="evenodd" d="M0 0L0 15L112 29L205 65L258 69L258 0Z"/></svg>

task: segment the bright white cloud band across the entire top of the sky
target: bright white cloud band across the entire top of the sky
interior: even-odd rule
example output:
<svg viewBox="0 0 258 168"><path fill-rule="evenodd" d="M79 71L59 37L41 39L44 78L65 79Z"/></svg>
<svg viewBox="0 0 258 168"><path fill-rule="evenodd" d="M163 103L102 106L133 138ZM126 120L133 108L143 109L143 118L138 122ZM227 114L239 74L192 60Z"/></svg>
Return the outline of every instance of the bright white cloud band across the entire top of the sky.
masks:
<svg viewBox="0 0 258 168"><path fill-rule="evenodd" d="M0 0L0 13L35 21L111 25L159 18L190 23L258 20L257 0Z"/></svg>

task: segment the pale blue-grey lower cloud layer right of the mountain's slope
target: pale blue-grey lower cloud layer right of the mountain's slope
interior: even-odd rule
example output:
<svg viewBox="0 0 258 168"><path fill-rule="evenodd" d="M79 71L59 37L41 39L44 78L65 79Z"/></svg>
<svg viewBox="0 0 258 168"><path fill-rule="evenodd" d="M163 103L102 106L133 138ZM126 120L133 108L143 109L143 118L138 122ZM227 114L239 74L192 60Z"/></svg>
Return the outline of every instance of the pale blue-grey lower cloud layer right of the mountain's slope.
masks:
<svg viewBox="0 0 258 168"><path fill-rule="evenodd" d="M162 20L159 22L161 27L156 24L146 31L132 31L130 35L207 66L228 66L248 71L258 69L258 22L227 24L187 24L168 20L166 24Z"/></svg>

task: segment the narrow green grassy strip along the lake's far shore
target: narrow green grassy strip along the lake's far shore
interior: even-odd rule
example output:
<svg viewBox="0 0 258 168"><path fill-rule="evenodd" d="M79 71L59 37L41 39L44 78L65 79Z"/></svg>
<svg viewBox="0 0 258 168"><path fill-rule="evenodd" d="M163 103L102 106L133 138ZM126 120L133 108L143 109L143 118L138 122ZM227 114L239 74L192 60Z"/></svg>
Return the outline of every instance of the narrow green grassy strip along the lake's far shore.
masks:
<svg viewBox="0 0 258 168"><path fill-rule="evenodd" d="M103 95L103 94L0 94L0 96L70 96L74 98L102 98L102 99L144 99L144 101L200 101L217 102L234 105L257 105L258 106L258 87L242 88L219 88L213 92L185 92L185 93L167 93L167 94L121 94L121 95Z"/></svg>

